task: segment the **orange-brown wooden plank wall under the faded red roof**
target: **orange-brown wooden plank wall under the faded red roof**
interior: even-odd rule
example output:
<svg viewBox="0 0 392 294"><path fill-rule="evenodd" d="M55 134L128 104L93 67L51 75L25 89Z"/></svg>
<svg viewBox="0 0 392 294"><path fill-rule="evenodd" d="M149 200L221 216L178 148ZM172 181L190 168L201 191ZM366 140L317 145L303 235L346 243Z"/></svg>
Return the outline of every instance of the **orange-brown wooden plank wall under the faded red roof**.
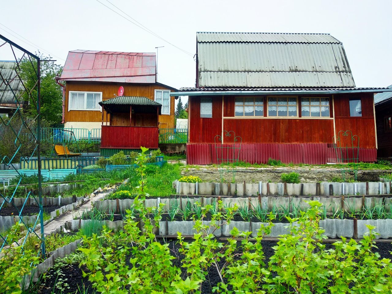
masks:
<svg viewBox="0 0 392 294"><path fill-rule="evenodd" d="M118 87L124 87L124 96L142 96L154 100L155 89L171 90L157 84L127 84L127 83L101 83L101 82L67 82L65 91L65 122L101 122L100 111L68 111L69 91L102 92L102 99L114 98L118 93ZM104 111L104 118L106 111ZM170 115L159 116L160 128L172 129L174 125L174 97L170 98Z"/></svg>

